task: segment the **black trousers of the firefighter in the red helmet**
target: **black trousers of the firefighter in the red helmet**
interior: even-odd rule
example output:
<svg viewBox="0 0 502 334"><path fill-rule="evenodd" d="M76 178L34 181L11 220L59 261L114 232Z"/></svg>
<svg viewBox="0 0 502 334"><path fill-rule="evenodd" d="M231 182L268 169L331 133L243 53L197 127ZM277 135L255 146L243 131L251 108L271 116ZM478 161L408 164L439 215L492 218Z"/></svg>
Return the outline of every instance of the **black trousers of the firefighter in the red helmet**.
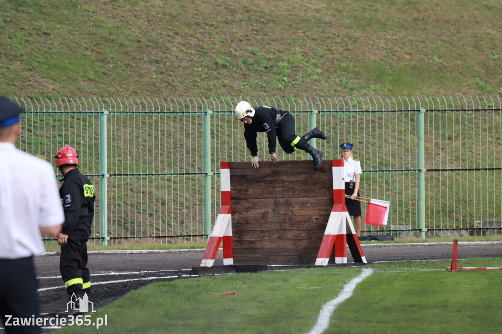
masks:
<svg viewBox="0 0 502 334"><path fill-rule="evenodd" d="M90 282L89 269L87 269L87 240L89 238L83 234L75 233L68 236L66 245L61 246L61 256L59 258L59 270L63 282L74 279L82 279L81 282L66 286L66 291L71 296L73 293L82 296L90 295L90 287L83 288L82 283Z"/></svg>

